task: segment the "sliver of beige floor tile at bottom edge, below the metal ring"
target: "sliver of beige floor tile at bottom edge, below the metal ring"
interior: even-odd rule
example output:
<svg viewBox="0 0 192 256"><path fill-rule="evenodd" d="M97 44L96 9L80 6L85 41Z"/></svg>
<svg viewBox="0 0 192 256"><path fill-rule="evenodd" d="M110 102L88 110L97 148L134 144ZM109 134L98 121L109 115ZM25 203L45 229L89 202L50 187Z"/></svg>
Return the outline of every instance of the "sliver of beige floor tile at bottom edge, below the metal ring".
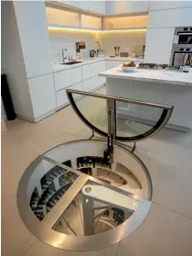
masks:
<svg viewBox="0 0 192 256"><path fill-rule="evenodd" d="M48 244L36 240L33 245L27 250L25 256L103 256L98 250L94 251L69 251L59 250L55 247L49 246Z"/></svg>

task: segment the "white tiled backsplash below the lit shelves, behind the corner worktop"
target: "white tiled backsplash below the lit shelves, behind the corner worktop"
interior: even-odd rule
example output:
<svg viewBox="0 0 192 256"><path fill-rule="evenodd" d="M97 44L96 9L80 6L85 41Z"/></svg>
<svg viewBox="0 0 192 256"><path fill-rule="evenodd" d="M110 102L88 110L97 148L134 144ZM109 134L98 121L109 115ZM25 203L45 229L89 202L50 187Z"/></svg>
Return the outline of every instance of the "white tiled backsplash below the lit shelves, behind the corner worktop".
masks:
<svg viewBox="0 0 192 256"><path fill-rule="evenodd" d="M120 46L121 51L128 52L129 55L134 51L140 56L143 54L146 36L145 30L97 33L90 30L50 28L48 32L53 63L62 61L62 49L67 49L65 54L76 59L77 41L85 41L86 49L91 50L96 49L95 40L99 40L106 56L114 55L114 46Z"/></svg>

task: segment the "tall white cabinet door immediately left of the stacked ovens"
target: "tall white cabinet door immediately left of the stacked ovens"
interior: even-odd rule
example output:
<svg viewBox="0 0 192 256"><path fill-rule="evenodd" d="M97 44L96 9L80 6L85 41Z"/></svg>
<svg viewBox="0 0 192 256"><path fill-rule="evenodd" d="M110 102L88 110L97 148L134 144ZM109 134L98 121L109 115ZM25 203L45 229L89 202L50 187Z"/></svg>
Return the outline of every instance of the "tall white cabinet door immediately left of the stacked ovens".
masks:
<svg viewBox="0 0 192 256"><path fill-rule="evenodd" d="M169 64L175 28L148 28L144 62Z"/></svg>

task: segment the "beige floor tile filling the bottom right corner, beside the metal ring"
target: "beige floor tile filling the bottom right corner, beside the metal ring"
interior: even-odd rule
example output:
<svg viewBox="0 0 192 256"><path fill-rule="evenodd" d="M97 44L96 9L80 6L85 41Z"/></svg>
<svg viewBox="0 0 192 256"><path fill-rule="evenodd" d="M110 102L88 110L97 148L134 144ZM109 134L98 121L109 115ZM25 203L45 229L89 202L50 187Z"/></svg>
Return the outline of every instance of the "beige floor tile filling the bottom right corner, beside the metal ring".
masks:
<svg viewBox="0 0 192 256"><path fill-rule="evenodd" d="M144 223L120 244L118 256L192 255L192 219L153 204Z"/></svg>

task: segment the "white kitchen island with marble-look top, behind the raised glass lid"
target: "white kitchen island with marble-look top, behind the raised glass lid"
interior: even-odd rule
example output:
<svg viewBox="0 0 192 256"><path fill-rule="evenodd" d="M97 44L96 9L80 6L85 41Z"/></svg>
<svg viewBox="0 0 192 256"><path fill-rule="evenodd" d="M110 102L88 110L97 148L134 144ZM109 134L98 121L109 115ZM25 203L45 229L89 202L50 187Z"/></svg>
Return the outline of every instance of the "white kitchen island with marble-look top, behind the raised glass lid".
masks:
<svg viewBox="0 0 192 256"><path fill-rule="evenodd" d="M192 131L192 71L188 73L170 70L136 69L123 72L121 67L100 72L106 78L107 95L174 106L166 128ZM116 104L118 115L153 125L160 117L156 109L144 106L121 106Z"/></svg>

